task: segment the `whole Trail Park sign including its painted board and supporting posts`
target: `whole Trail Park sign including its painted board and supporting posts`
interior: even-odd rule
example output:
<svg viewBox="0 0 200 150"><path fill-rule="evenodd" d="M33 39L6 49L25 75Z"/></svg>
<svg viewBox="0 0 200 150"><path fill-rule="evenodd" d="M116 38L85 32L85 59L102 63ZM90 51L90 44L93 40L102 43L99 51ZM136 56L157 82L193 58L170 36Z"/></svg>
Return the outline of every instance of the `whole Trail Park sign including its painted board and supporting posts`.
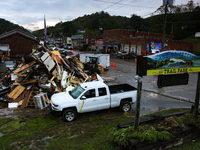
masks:
<svg viewBox="0 0 200 150"><path fill-rule="evenodd" d="M199 108L199 97L200 97L200 56L194 55L186 51L164 51L149 56L137 57L137 69L136 74L140 77L149 75L170 75L171 79L175 79L173 75L183 74L185 77L184 84L188 81L188 73L198 72L198 82L195 98L194 115L198 116ZM182 75L180 75L182 76ZM170 79L169 78L169 79ZM138 81L140 81L138 79ZM168 83L167 83L168 84ZM182 84L182 83L181 83ZM173 83L173 85L176 85ZM177 82L177 85L180 85ZM169 85L168 85L169 86ZM139 124L138 111L140 111L141 101L141 83L138 82L138 93L137 93L137 110L135 117L135 128Z"/></svg>

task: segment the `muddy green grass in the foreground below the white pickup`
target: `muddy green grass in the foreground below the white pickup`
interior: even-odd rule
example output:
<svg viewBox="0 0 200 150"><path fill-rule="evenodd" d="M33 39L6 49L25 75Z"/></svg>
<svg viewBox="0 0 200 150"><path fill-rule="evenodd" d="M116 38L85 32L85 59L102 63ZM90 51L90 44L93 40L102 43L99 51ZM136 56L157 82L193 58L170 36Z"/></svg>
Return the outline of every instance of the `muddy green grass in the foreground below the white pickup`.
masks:
<svg viewBox="0 0 200 150"><path fill-rule="evenodd" d="M169 114L186 109L170 109L160 111ZM0 149L39 149L49 150L116 150L118 147L109 142L108 133L119 123L133 121L133 117L125 115L118 119L105 120L101 113L89 113L79 116L73 122L63 122L61 117L46 115L36 118L20 118L19 120L0 120ZM107 114L107 112L106 112ZM181 148L198 148L200 139L184 144ZM179 147L172 150L179 150ZM35 148L35 149L37 149Z"/></svg>

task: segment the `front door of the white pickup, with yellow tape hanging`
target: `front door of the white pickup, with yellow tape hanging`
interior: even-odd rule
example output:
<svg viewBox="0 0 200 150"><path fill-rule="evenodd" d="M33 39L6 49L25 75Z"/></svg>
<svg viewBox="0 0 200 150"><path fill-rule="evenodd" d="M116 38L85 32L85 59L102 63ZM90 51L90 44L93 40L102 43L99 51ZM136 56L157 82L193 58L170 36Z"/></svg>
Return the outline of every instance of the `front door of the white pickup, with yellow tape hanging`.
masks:
<svg viewBox="0 0 200 150"><path fill-rule="evenodd" d="M95 89L90 89L81 96L78 102L78 107L78 111L80 113L97 110L97 97Z"/></svg>

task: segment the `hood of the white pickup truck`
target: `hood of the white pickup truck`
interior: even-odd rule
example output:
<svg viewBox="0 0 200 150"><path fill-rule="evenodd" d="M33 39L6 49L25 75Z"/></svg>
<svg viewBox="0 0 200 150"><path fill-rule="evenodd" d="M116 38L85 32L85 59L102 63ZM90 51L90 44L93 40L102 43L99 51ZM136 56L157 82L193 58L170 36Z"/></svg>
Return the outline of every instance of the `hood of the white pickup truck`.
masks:
<svg viewBox="0 0 200 150"><path fill-rule="evenodd" d="M69 95L69 92L60 92L52 95L51 102L59 105L66 102L74 103L75 99Z"/></svg>

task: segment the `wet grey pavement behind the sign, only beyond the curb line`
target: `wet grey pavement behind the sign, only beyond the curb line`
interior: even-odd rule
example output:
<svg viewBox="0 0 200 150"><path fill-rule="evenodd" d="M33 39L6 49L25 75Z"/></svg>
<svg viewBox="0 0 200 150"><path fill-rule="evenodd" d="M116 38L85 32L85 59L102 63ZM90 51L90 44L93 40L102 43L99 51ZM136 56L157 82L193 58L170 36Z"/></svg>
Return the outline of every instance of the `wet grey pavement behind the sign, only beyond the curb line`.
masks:
<svg viewBox="0 0 200 150"><path fill-rule="evenodd" d="M116 64L112 66L113 64ZM136 64L133 59L123 60L111 57L111 67L102 77L110 79L108 84L129 83L137 87L135 82ZM157 76L144 76L142 78L142 89L177 100L195 102L198 73L189 73L188 85L177 85L158 88Z"/></svg>

